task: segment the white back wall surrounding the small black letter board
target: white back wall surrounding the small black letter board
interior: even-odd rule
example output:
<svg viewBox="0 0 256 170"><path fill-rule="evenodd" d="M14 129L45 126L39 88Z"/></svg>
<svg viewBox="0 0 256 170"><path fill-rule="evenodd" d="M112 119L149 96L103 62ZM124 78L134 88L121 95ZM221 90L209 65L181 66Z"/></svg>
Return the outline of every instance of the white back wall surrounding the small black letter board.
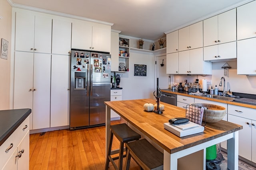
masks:
<svg viewBox="0 0 256 170"><path fill-rule="evenodd" d="M134 76L134 64L146 64L147 76ZM130 71L116 72L121 74L122 100L154 98L154 65L153 54L130 51Z"/></svg>

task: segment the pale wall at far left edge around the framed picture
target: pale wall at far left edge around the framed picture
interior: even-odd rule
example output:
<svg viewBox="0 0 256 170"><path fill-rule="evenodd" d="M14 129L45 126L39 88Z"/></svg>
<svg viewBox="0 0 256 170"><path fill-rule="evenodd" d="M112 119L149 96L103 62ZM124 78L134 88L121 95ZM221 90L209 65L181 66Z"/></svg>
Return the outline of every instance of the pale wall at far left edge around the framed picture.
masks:
<svg viewBox="0 0 256 170"><path fill-rule="evenodd" d="M10 61L12 36L12 7L7 0L0 0L0 42L6 39L8 44L8 59L0 58L0 110L10 109ZM1 44L1 43L0 43Z"/></svg>

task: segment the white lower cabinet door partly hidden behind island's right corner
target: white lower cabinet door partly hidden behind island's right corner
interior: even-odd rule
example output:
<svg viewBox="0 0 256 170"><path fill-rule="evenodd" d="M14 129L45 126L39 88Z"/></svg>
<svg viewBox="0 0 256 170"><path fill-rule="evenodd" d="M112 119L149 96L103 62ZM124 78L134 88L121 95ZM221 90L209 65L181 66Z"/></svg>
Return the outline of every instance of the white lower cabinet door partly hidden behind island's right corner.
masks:
<svg viewBox="0 0 256 170"><path fill-rule="evenodd" d="M248 160L252 160L252 128L251 120L243 117L238 117L234 115L228 115L228 121L242 125L243 129L239 132L238 139L238 154ZM249 125L247 124L249 123ZM253 150L254 151L254 150Z"/></svg>

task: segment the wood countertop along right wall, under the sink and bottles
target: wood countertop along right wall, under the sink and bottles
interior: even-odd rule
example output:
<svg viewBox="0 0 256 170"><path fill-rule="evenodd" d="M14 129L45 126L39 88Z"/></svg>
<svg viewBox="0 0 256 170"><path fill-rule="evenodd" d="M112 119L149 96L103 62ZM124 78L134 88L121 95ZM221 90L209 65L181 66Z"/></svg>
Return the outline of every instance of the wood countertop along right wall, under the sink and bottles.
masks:
<svg viewBox="0 0 256 170"><path fill-rule="evenodd" d="M242 103L242 102L236 102L236 101L226 101L226 100L219 100L216 98L207 98L205 96L196 96L196 95L191 95L188 92L185 91L178 91L178 90L172 90L172 89L161 89L162 92L166 92L166 93L171 93L171 94L178 94L178 95L183 95L183 96L188 96L188 97L192 97L192 98L199 98L199 99L204 99L204 100L210 100L210 101L214 101L214 102L220 102L220 103L226 103L226 104L232 104L232 105L236 105L236 106L242 106L242 107L249 107L252 109L256 109L256 105L254 104L247 104L247 103ZM241 94L239 96L242 96ZM250 97L250 98L254 98L255 95L246 95L246 97ZM242 96L244 97L244 96Z"/></svg>

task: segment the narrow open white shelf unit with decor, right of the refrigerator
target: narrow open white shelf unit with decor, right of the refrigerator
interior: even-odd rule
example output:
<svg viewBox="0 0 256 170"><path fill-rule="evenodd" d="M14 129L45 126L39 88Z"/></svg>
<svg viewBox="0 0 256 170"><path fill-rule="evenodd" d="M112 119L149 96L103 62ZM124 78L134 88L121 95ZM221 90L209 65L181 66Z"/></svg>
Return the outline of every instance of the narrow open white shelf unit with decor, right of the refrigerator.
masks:
<svg viewBox="0 0 256 170"><path fill-rule="evenodd" d="M118 71L129 72L130 39L119 37L119 67Z"/></svg>

